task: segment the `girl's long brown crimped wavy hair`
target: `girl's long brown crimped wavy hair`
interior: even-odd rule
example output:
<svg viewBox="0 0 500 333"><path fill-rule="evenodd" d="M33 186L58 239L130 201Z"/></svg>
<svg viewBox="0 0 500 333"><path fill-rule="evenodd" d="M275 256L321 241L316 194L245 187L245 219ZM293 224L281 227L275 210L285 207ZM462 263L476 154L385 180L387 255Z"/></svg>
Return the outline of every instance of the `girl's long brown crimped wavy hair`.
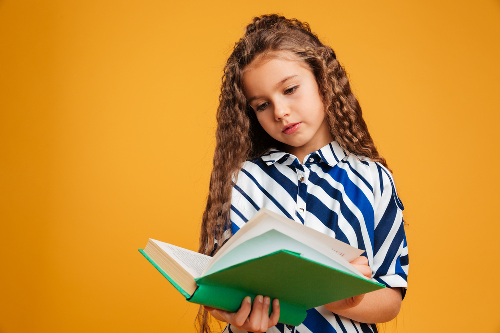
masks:
<svg viewBox="0 0 500 333"><path fill-rule="evenodd" d="M245 68L269 52L288 51L314 73L323 100L326 121L334 140L347 152L387 163L371 138L361 107L351 91L335 52L324 45L309 24L279 15L253 18L227 59L217 110L216 147L210 192L201 222L199 252L213 255L230 235L229 211L233 180L245 161L260 157L280 143L260 126L243 89ZM197 316L200 333L210 333L208 313Z"/></svg>

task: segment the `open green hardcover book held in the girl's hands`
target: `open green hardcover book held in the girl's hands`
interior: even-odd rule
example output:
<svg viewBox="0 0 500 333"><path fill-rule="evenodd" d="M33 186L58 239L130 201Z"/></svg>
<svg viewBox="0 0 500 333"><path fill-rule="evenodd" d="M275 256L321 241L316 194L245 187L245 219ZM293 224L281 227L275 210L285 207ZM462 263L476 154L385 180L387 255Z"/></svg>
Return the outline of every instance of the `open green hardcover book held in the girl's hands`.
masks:
<svg viewBox="0 0 500 333"><path fill-rule="evenodd" d="M363 250L265 208L213 257L153 239L139 251L190 302L234 312L246 296L278 298L279 322L295 326L307 309L385 287L349 263Z"/></svg>

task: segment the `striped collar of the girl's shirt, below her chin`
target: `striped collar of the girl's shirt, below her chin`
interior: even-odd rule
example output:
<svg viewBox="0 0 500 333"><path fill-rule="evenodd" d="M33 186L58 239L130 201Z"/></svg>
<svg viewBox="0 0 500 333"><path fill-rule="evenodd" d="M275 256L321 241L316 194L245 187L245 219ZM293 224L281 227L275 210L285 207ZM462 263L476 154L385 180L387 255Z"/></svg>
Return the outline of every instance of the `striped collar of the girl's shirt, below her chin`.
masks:
<svg viewBox="0 0 500 333"><path fill-rule="evenodd" d="M335 166L347 156L348 155L338 145L338 143L336 141L333 141L324 146L323 148L316 150L315 152L305 156L304 164L306 165L315 164L319 163L320 161L323 161L330 166ZM267 149L267 151L265 152L264 155L262 155L261 158L267 165L271 165L276 162L283 165L301 164L295 155L282 152L280 150L277 150L276 148Z"/></svg>

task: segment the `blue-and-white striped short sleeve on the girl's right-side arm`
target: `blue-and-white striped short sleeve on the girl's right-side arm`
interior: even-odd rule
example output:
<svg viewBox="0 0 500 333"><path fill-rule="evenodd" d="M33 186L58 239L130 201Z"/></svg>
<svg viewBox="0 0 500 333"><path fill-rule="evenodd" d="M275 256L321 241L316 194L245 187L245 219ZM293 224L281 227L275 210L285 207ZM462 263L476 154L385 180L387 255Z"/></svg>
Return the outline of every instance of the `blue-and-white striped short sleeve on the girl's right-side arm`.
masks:
<svg viewBox="0 0 500 333"><path fill-rule="evenodd" d="M408 247L404 232L404 206L397 196L391 173L375 163L374 180L374 242L372 278L387 287L408 286Z"/></svg>

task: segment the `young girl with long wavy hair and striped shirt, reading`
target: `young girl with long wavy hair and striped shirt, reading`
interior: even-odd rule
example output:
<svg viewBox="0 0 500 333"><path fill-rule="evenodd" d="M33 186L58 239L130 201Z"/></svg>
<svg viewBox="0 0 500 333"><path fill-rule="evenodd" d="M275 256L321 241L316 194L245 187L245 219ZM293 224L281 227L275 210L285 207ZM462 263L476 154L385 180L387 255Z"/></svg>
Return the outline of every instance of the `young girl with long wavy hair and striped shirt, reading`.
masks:
<svg viewBox="0 0 500 333"><path fill-rule="evenodd" d="M213 255L266 207L365 250L352 264L388 288L310 309L298 327L279 324L265 295L235 313L202 307L200 332L208 311L231 333L377 332L365 323L393 319L407 287L403 205L335 52L307 23L257 17L222 82L199 251Z"/></svg>

